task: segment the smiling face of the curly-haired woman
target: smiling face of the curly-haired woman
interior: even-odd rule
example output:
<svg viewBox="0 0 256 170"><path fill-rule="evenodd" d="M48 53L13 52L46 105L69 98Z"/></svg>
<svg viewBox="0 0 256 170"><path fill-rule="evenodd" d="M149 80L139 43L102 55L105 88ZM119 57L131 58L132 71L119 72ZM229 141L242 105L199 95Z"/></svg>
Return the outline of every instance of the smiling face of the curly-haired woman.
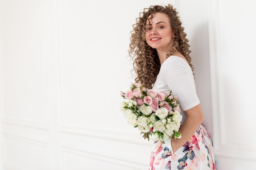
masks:
<svg viewBox="0 0 256 170"><path fill-rule="evenodd" d="M165 13L154 13L146 22L146 42L157 51L168 52L172 47L174 32Z"/></svg>

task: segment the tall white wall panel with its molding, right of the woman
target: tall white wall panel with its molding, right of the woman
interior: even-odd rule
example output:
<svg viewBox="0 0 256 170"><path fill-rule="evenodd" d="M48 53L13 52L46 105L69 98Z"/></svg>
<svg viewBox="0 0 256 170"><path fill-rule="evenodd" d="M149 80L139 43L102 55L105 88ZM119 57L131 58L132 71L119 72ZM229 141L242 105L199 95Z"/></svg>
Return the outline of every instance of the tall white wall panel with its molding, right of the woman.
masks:
<svg viewBox="0 0 256 170"><path fill-rule="evenodd" d="M245 18L252 17L255 2L247 3L247 10L238 13L241 7L233 1L209 1L213 138L219 162L227 157L256 163L256 138L251 135L256 128L253 122L256 117L249 107L256 102L253 88L256 70L251 52L245 50L254 45L243 44L255 38L243 34L255 29L255 26L247 31L243 28L248 23Z"/></svg>

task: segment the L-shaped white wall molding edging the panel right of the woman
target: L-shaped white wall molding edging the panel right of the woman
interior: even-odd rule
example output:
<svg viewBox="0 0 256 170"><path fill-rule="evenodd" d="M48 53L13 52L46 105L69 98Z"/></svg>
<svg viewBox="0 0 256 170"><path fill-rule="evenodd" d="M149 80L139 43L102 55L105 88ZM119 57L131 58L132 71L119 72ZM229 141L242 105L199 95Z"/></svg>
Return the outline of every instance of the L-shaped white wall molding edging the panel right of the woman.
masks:
<svg viewBox="0 0 256 170"><path fill-rule="evenodd" d="M256 148L225 142L219 0L208 0L213 144L216 156L256 162Z"/></svg>

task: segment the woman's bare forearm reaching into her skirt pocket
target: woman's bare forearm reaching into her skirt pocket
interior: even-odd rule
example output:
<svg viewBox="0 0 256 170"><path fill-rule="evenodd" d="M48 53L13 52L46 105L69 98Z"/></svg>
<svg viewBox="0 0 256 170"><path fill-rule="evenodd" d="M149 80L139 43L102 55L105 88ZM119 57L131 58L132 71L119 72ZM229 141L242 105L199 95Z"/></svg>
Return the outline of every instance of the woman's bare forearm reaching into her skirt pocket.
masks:
<svg viewBox="0 0 256 170"><path fill-rule="evenodd" d="M182 126L180 126L179 130L182 137L180 139L173 138L171 140L173 153L186 144L186 142L194 135L195 131L198 129L198 126L204 120L204 115L200 104L184 112L187 114L187 118Z"/></svg>

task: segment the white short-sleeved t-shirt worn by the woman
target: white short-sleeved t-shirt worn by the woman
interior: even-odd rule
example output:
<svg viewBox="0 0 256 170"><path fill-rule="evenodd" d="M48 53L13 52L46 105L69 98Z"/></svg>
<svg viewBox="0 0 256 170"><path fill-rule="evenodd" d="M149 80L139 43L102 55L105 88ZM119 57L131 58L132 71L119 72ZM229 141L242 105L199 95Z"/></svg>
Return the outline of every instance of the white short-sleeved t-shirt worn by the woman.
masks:
<svg viewBox="0 0 256 170"><path fill-rule="evenodd" d="M155 92L164 91L167 94L172 90L172 94L178 96L177 102L180 104L182 114L181 124L187 117L184 111L200 103L191 67L181 57L170 56L164 61L152 89Z"/></svg>

